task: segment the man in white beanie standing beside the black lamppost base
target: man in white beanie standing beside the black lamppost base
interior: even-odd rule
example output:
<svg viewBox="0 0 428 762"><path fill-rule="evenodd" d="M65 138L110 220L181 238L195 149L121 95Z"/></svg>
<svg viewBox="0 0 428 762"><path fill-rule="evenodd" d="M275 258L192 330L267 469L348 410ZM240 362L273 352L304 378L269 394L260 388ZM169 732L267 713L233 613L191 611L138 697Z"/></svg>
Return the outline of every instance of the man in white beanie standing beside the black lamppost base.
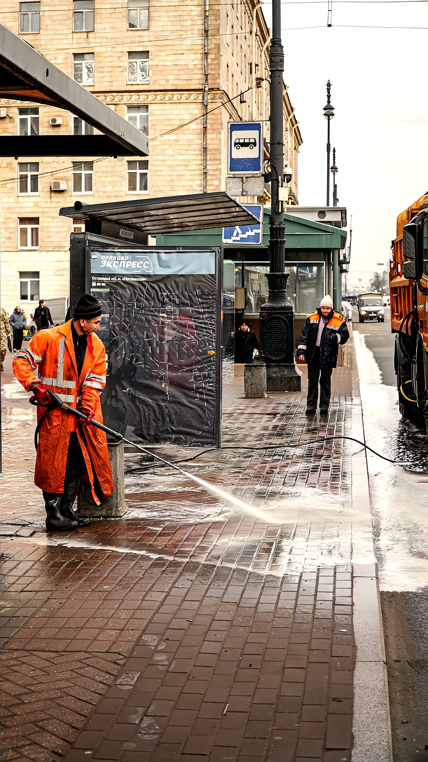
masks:
<svg viewBox="0 0 428 762"><path fill-rule="evenodd" d="M339 344L350 338L345 319L334 312L331 296L321 299L319 309L308 315L303 325L297 359L308 363L308 405L306 415L315 415L320 385L320 414L327 415L331 397L331 373L337 365Z"/></svg>

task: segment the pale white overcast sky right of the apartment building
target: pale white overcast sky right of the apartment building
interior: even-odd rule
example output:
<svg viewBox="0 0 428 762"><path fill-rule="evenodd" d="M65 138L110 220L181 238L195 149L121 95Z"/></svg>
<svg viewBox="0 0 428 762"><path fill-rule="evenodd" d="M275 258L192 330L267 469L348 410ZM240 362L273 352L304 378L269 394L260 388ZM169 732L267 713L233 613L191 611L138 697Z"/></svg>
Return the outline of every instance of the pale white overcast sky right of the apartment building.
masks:
<svg viewBox="0 0 428 762"><path fill-rule="evenodd" d="M270 27L271 7L264 3ZM326 203L327 120L322 109L327 79L332 85L331 148L336 147L337 196L339 206L347 207L348 229L353 216L349 290L359 277L364 283L374 271L388 267L398 214L428 191L428 7L426 2L333 0L331 28L327 2L282 2L281 11L284 81L303 139L303 206Z"/></svg>

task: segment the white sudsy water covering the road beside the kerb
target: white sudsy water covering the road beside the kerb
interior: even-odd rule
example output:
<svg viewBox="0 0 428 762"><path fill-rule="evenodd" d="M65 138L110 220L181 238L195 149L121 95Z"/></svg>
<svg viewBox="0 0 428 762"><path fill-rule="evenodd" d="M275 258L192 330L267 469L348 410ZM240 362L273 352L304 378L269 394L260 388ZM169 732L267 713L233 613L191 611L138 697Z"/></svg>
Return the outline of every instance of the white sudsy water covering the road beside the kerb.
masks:
<svg viewBox="0 0 428 762"><path fill-rule="evenodd" d="M428 577L428 439L401 418L398 392L382 383L382 373L364 335L354 330L367 443L394 466L367 453L375 526L379 585L382 591L410 591Z"/></svg>

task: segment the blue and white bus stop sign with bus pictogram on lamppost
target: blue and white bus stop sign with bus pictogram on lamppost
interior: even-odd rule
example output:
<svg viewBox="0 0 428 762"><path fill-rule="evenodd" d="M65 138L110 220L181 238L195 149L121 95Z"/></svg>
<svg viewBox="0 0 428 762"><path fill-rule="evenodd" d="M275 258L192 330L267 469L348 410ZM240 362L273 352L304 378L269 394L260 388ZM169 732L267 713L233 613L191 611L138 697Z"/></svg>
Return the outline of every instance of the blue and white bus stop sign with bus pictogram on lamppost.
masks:
<svg viewBox="0 0 428 762"><path fill-rule="evenodd" d="M261 122L229 122L228 174L260 174L262 158Z"/></svg>

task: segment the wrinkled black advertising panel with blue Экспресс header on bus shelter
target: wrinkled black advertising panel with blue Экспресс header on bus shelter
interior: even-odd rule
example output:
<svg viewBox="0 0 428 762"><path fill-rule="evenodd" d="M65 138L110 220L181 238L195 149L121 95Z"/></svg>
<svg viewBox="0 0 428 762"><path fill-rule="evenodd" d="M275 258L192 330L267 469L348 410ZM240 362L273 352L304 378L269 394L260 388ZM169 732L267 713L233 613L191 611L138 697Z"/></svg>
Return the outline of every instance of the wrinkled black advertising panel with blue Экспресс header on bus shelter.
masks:
<svg viewBox="0 0 428 762"><path fill-rule="evenodd" d="M88 245L103 306L104 423L144 442L219 447L221 248Z"/></svg>

